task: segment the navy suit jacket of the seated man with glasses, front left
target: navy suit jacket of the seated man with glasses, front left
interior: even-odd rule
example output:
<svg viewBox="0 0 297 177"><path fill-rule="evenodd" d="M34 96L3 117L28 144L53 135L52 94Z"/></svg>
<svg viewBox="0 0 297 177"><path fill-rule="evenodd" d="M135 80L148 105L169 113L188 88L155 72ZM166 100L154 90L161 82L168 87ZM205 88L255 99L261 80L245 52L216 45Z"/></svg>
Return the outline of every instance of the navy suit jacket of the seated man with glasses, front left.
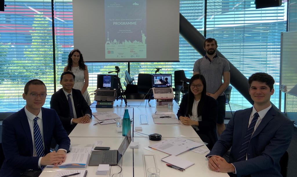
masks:
<svg viewBox="0 0 297 177"><path fill-rule="evenodd" d="M59 149L69 151L70 139L61 121L53 109L41 108L44 154L50 152L52 138L59 144ZM2 123L2 146L5 156L0 176L20 176L20 173L38 169L40 157L33 157L33 140L25 109L12 114Z"/></svg>

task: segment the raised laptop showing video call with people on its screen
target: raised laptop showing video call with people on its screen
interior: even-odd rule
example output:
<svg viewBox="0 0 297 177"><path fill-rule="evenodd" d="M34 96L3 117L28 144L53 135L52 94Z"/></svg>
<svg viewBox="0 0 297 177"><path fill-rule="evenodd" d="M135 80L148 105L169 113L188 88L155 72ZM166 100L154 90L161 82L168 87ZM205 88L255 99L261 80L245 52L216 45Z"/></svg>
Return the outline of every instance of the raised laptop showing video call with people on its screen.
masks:
<svg viewBox="0 0 297 177"><path fill-rule="evenodd" d="M154 98L174 98L171 74L153 74Z"/></svg>

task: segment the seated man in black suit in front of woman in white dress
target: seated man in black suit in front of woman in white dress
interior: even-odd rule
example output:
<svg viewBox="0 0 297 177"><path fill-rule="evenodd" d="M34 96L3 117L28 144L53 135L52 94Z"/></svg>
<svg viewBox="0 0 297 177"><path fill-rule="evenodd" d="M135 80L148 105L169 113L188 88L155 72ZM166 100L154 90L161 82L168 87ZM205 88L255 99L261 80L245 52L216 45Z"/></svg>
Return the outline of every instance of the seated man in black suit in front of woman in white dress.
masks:
<svg viewBox="0 0 297 177"><path fill-rule="evenodd" d="M54 93L50 99L50 108L55 109L69 135L78 123L91 122L92 111L80 90L73 89L75 75L70 71L61 74L60 84L63 88Z"/></svg>

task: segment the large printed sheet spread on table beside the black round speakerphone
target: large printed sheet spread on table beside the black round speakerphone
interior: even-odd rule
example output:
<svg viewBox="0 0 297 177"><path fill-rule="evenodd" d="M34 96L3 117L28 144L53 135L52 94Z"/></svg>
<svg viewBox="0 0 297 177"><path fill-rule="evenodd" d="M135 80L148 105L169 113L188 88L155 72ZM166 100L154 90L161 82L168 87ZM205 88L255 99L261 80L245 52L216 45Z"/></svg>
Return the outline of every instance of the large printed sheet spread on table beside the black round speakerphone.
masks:
<svg viewBox="0 0 297 177"><path fill-rule="evenodd" d="M178 155L203 145L204 144L202 143L197 143L195 141L188 140L186 138L177 137L177 138L162 140L159 143L156 143L149 147L165 152L167 154Z"/></svg>

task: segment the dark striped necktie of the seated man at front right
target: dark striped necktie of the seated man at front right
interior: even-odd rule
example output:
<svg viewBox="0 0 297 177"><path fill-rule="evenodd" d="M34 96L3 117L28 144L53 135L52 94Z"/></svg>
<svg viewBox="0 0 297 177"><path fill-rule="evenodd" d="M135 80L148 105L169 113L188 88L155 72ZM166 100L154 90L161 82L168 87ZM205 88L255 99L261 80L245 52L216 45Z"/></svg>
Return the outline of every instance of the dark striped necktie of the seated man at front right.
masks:
<svg viewBox="0 0 297 177"><path fill-rule="evenodd" d="M255 125L256 125L258 118L259 118L259 114L256 112L254 114L252 122L249 124L249 127L247 128L247 133L245 134L244 139L242 140L238 159L236 160L237 162L246 159L247 149L249 148L249 141L252 137L252 133L255 129Z"/></svg>

